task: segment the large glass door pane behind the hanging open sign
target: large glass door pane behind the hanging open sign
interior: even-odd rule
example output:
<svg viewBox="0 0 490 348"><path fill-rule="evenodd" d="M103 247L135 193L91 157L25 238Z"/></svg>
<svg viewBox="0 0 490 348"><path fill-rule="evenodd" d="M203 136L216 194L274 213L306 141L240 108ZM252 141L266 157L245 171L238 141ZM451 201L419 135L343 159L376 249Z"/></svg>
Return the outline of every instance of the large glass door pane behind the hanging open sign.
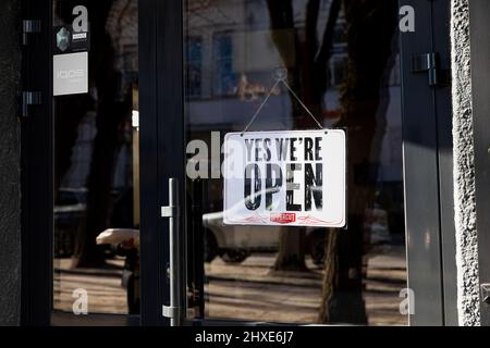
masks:
<svg viewBox="0 0 490 348"><path fill-rule="evenodd" d="M408 323L397 11L185 1L188 320ZM348 139L346 227L225 224L226 134L318 129L315 119Z"/></svg>

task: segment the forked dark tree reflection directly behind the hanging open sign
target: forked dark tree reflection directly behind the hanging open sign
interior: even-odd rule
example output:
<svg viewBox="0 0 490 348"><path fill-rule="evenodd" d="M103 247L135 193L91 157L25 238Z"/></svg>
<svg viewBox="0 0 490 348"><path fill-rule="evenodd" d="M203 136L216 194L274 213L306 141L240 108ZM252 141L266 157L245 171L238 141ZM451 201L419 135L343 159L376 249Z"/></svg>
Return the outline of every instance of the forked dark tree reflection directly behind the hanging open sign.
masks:
<svg viewBox="0 0 490 348"><path fill-rule="evenodd" d="M321 41L318 39L318 20L320 0L310 0L306 5L306 35L302 41L294 23L293 0L268 0L272 39L278 48L283 64L289 70L289 84L302 96L315 114L321 114L322 99L328 85L328 62L331 57L334 28L339 17L341 1L333 0ZM295 98L294 126L311 127L313 123L305 116ZM281 235L279 254L274 270L305 271L305 232L286 231Z"/></svg>

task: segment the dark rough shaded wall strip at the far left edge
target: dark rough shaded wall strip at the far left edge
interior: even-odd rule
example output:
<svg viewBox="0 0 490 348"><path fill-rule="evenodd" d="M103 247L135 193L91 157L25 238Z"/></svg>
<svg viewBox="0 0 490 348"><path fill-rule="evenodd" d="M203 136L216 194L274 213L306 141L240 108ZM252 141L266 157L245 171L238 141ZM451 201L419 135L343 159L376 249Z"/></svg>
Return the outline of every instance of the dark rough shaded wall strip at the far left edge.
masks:
<svg viewBox="0 0 490 348"><path fill-rule="evenodd" d="M20 323L20 2L0 1L0 325Z"/></svg>

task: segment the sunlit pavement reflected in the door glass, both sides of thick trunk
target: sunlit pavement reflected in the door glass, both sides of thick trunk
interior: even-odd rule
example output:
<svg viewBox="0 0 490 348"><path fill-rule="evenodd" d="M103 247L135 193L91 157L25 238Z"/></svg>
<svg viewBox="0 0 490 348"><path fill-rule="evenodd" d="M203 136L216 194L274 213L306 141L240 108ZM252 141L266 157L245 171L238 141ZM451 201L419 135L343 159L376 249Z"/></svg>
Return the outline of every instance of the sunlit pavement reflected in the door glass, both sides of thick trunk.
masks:
<svg viewBox="0 0 490 348"><path fill-rule="evenodd" d="M366 279L366 309L370 325L406 325L399 312L399 293L406 287L403 247L370 254ZM388 256L385 253L388 252ZM322 271L272 273L274 254L256 253L242 264L216 259L206 265L207 315L264 322L316 323Z"/></svg>

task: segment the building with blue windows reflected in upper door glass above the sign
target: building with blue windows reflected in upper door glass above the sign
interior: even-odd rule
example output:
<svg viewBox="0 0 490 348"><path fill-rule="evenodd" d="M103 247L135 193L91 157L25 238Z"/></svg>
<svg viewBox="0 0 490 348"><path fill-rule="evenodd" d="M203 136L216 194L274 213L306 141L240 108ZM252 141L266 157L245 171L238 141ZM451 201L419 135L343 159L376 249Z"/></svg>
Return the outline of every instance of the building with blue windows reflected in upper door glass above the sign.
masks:
<svg viewBox="0 0 490 348"><path fill-rule="evenodd" d="M243 128L272 87L274 69L286 63L291 65L286 67L294 69L302 59L298 55L303 51L290 50L285 61L272 36L291 42L289 47L294 47L295 35L299 41L305 41L306 3L305 0L293 1L297 32L294 33L292 28L271 30L267 1L188 1L186 96L191 99L187 110L191 128L203 132ZM320 4L317 25L320 40L329 21L330 5L330 0ZM334 125L341 115L340 90L348 71L345 25L341 11L333 32L321 115L317 115L326 127ZM393 54L394 64L385 73L387 78L380 80L382 107L379 113L384 114L387 123L381 154L377 159L381 182L402 181L400 59L395 49ZM294 127L291 113L291 98L281 88L261 111L255 129Z"/></svg>

